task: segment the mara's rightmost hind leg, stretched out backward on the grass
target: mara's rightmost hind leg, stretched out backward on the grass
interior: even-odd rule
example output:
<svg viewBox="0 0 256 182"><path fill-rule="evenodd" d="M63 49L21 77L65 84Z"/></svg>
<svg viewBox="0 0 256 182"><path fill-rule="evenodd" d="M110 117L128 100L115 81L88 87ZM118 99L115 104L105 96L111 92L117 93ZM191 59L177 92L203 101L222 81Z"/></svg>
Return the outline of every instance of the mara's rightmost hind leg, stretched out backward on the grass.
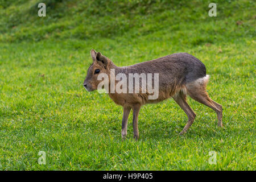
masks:
<svg viewBox="0 0 256 182"><path fill-rule="evenodd" d="M193 82L187 84L187 93L191 98L193 98L193 100L196 100L197 102L200 102L201 104L204 104L216 111L218 126L222 127L222 106L210 99L207 92L205 91L205 86L206 83L199 84L197 82Z"/></svg>

